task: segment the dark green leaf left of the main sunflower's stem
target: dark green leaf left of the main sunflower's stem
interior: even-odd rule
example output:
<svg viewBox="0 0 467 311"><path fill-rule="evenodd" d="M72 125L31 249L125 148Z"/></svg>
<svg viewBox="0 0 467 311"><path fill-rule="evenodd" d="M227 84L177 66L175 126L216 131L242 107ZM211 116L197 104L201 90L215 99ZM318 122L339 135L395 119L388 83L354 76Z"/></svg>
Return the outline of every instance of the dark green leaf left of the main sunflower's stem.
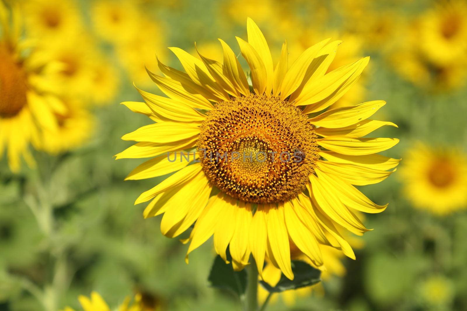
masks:
<svg viewBox="0 0 467 311"><path fill-rule="evenodd" d="M220 256L216 256L208 281L212 287L232 291L241 297L247 288L247 272L245 270L233 271L231 264L226 264Z"/></svg>

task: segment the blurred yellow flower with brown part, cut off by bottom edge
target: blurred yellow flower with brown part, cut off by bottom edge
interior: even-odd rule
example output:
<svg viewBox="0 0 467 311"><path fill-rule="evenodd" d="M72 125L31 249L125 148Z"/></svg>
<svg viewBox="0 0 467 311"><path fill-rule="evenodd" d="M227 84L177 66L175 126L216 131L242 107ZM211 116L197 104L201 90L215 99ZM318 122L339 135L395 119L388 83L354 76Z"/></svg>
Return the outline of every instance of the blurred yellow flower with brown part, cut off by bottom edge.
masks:
<svg viewBox="0 0 467 311"><path fill-rule="evenodd" d="M99 293L93 291L91 297L79 296L79 303L83 308L83 311L111 311L105 300L99 295ZM163 310L160 302L151 299L145 299L144 295L136 294L133 303L129 297L125 298L124 302L119 307L112 309L117 311L161 311ZM74 311L70 307L66 307L63 311Z"/></svg>

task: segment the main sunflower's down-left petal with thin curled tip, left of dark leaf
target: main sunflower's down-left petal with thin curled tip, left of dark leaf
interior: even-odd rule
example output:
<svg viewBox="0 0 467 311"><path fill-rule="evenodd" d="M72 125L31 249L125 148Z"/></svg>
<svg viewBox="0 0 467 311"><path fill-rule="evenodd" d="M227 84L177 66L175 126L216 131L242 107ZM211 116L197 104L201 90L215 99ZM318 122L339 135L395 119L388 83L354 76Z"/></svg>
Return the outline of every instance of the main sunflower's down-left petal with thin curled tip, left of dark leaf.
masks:
<svg viewBox="0 0 467 311"><path fill-rule="evenodd" d="M199 215L192 231L190 246L185 256L186 263L188 263L188 255L214 234L219 215L222 213L223 197L224 194L219 192L219 194L209 198L205 209Z"/></svg>

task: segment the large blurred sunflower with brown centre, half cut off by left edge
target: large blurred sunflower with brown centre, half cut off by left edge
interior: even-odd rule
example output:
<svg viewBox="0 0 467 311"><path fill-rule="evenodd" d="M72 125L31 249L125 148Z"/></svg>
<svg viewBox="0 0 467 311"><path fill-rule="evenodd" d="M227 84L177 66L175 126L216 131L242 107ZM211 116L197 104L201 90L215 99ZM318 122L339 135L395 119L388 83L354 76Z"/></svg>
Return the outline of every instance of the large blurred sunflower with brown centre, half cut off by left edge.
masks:
<svg viewBox="0 0 467 311"><path fill-rule="evenodd" d="M34 166L28 145L56 128L54 110L62 105L48 75L56 66L22 48L19 16L0 1L0 157L6 150L12 171L20 169L21 157Z"/></svg>

